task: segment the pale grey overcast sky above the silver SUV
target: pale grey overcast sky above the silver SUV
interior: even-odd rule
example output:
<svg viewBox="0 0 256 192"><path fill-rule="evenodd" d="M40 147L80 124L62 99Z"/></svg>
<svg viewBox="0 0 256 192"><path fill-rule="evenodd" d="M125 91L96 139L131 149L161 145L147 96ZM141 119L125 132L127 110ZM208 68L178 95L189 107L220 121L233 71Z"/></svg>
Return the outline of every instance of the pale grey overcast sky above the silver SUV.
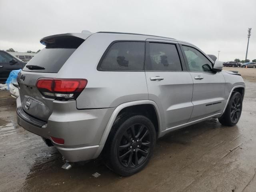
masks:
<svg viewBox="0 0 256 192"><path fill-rule="evenodd" d="M256 0L0 0L0 50L44 48L44 36L82 30L151 34L195 44L222 61L256 59Z"/></svg>

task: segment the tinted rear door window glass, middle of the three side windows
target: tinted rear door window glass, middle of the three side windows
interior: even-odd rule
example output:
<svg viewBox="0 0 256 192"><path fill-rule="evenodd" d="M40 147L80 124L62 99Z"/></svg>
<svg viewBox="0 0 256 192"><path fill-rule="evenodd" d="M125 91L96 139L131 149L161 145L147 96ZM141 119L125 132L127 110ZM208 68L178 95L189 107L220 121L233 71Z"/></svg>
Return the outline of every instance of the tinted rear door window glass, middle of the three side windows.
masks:
<svg viewBox="0 0 256 192"><path fill-rule="evenodd" d="M149 55L148 55L149 54ZM145 70L181 71L181 63L176 45L149 43Z"/></svg>

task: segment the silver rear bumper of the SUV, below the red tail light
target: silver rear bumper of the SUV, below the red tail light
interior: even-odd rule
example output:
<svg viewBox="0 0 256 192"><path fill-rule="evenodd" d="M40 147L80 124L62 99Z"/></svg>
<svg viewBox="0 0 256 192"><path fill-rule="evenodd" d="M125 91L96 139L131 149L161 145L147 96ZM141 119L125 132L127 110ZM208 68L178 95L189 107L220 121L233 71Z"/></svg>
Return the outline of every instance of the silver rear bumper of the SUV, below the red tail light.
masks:
<svg viewBox="0 0 256 192"><path fill-rule="evenodd" d="M114 108L77 110L76 102L56 101L48 122L22 114L20 97L17 103L17 121L26 130L48 138L63 138L64 144L52 144L70 162L97 158L103 146L99 145L106 124ZM106 122L105 122L106 121Z"/></svg>

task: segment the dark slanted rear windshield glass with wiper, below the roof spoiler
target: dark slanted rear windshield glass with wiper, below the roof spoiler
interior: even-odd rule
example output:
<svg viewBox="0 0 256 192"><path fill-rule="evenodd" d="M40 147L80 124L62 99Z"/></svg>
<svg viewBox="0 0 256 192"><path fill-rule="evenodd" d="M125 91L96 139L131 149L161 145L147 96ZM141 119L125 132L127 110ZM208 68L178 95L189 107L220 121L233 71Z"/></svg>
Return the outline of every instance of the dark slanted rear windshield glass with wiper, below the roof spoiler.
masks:
<svg viewBox="0 0 256 192"><path fill-rule="evenodd" d="M34 56L27 65L44 67L44 70L33 70L33 72L57 73L76 49L68 48L44 48ZM24 67L24 71L32 71Z"/></svg>

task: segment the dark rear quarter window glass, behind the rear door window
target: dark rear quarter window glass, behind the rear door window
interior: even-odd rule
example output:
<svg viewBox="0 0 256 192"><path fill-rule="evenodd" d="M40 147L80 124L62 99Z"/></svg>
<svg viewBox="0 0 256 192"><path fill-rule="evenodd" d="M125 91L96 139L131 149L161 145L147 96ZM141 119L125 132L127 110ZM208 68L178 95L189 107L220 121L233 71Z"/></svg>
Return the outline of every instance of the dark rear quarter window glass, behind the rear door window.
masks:
<svg viewBox="0 0 256 192"><path fill-rule="evenodd" d="M102 70L143 70L144 42L116 42L104 59L100 68Z"/></svg>

